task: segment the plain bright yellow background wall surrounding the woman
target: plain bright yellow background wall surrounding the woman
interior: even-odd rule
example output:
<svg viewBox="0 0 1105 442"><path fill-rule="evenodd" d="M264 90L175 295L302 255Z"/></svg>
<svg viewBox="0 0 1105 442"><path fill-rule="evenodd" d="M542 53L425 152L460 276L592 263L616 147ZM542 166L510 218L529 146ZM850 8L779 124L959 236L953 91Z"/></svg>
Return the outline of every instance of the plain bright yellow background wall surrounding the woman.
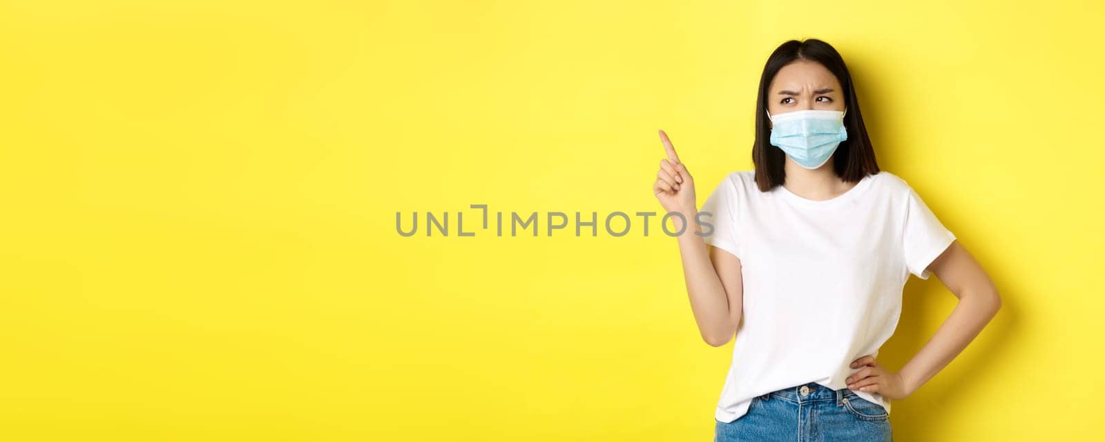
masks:
<svg viewBox="0 0 1105 442"><path fill-rule="evenodd" d="M660 211L660 128L702 202L807 36L1004 299L895 439L1099 438L1105 7L677 3L0 3L0 440L709 440L732 343L659 225L394 214ZM912 280L881 362L954 300Z"/></svg>

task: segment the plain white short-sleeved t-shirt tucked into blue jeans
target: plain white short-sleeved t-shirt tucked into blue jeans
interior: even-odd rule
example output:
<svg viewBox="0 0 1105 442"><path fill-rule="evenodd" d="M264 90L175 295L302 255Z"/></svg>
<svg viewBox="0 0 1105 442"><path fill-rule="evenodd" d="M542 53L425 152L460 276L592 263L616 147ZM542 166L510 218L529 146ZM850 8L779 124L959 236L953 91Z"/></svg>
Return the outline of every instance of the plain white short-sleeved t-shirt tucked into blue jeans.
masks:
<svg viewBox="0 0 1105 442"><path fill-rule="evenodd" d="M751 399L818 382L846 388L849 365L875 355L897 326L902 288L956 239L897 175L867 175L825 201L783 186L760 192L755 171L733 172L703 212L708 245L740 259L744 313L716 418L732 422ZM703 233L708 231L703 227ZM882 405L882 395L853 390Z"/></svg>

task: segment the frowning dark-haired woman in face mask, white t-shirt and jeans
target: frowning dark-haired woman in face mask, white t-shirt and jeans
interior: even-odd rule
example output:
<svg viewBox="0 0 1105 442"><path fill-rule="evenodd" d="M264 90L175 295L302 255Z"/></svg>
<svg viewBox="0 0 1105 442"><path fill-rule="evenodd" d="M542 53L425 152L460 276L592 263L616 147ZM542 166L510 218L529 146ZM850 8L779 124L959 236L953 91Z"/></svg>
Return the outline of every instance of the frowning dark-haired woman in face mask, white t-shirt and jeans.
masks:
<svg viewBox="0 0 1105 442"><path fill-rule="evenodd" d="M694 179L660 138L656 198L696 219ZM705 222L687 223L695 235L678 236L703 339L722 346L736 335L715 441L891 441L890 401L974 339L997 314L998 292L917 193L880 171L852 78L828 43L789 41L768 58L753 163L714 190ZM959 303L892 371L876 356L909 273L935 273Z"/></svg>

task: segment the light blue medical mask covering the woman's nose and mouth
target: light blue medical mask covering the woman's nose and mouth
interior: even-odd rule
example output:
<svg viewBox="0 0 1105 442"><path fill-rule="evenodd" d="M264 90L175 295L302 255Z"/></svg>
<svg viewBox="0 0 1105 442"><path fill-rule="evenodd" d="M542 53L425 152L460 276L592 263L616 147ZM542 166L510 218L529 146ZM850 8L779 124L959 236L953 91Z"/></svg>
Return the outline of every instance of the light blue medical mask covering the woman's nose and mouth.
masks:
<svg viewBox="0 0 1105 442"><path fill-rule="evenodd" d="M775 116L769 112L771 145L782 149L802 168L818 169L829 161L840 142L848 139L846 111L796 110Z"/></svg>

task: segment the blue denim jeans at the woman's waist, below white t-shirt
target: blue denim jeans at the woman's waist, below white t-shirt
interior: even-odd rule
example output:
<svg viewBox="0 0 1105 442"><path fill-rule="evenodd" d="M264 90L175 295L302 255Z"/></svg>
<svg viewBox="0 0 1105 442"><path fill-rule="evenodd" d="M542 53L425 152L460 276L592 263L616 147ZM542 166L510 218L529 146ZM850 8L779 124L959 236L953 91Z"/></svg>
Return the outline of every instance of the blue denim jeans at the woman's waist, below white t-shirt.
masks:
<svg viewBox="0 0 1105 442"><path fill-rule="evenodd" d="M817 382L758 396L737 420L714 421L714 442L893 441L886 409Z"/></svg>

